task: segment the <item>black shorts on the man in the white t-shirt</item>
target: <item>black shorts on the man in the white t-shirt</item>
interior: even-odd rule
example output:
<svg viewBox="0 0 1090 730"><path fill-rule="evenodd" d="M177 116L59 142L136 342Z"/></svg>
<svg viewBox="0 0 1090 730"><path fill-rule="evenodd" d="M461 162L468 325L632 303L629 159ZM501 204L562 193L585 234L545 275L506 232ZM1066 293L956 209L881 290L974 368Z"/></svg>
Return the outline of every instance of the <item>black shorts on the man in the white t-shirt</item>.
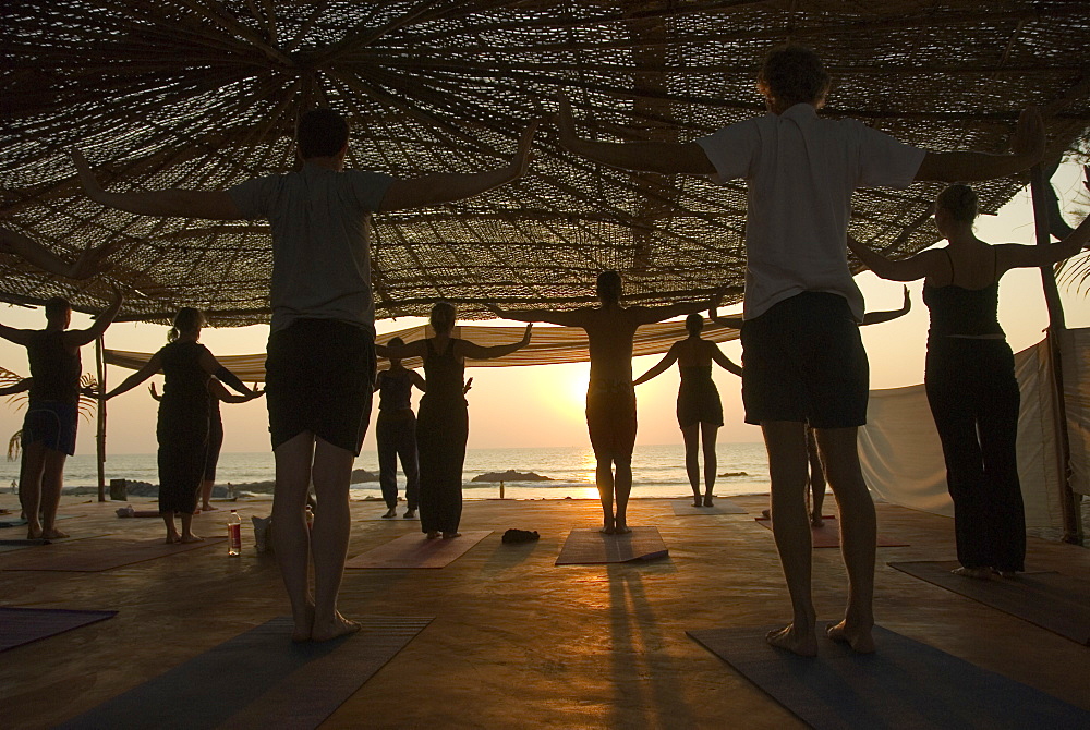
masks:
<svg viewBox="0 0 1090 730"><path fill-rule="evenodd" d="M870 368L848 302L802 292L742 326L746 423L814 428L867 423Z"/></svg>

